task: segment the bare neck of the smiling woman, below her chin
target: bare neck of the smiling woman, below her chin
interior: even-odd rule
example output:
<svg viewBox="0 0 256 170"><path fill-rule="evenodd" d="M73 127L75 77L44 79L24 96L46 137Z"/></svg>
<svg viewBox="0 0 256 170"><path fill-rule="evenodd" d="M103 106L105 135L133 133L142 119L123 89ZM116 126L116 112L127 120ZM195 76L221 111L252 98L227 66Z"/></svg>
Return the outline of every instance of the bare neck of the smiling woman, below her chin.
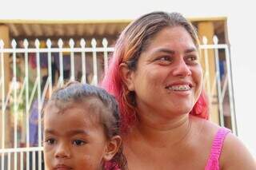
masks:
<svg viewBox="0 0 256 170"><path fill-rule="evenodd" d="M185 141L190 133L191 121L189 114L184 114L165 121L139 119L131 129L127 141L132 141L130 137L136 137L141 141L152 144L167 144L168 146L180 144Z"/></svg>

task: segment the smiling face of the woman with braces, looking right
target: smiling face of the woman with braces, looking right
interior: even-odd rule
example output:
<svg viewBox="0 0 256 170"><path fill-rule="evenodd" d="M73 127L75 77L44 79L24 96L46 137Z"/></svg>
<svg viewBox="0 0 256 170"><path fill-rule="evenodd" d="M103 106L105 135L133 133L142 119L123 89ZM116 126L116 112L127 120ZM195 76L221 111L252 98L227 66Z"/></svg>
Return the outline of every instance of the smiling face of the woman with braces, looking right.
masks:
<svg viewBox="0 0 256 170"><path fill-rule="evenodd" d="M151 40L130 74L138 115L173 117L189 113L202 89L198 49L182 27L167 27Z"/></svg>

